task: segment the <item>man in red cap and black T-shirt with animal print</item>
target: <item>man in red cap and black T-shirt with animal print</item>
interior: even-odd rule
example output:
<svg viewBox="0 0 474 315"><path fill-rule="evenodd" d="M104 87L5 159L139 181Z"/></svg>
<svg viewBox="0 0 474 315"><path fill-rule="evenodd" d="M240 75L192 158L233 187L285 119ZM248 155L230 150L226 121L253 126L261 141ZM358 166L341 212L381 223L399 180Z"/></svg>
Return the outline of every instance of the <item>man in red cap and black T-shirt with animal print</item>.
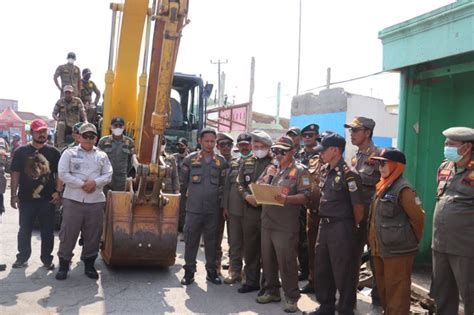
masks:
<svg viewBox="0 0 474 315"><path fill-rule="evenodd" d="M20 211L18 254L13 268L27 266L31 256L31 232L39 218L41 261L54 269L51 252L54 246L54 205L60 201L62 185L57 177L59 151L46 144L48 125L35 119L30 125L33 141L15 152L11 165L11 206ZM17 194L18 192L18 194Z"/></svg>

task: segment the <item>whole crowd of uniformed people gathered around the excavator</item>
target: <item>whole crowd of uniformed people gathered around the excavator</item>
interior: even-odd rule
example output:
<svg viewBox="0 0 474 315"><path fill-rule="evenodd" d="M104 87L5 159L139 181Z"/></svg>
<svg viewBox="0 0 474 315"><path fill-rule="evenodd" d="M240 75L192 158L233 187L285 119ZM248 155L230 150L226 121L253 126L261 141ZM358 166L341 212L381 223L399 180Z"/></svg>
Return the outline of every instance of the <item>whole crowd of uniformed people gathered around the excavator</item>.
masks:
<svg viewBox="0 0 474 315"><path fill-rule="evenodd" d="M68 277L79 238L84 273L98 279L94 263L105 193L126 190L135 146L124 134L121 117L111 120L109 136L98 139L97 127L88 122L83 102L74 96L87 84L80 80L88 78L78 76L75 55L69 54L68 60L55 74L56 83L61 76L67 84L57 83L64 96L53 116L58 126L62 124L59 129L70 128L74 142L66 146L64 137L59 139L60 152L47 144L46 122L35 119L31 143L17 148L12 158L11 206L20 214L18 254L12 267L27 266L38 219L41 261L48 270L55 269L54 212L62 204L56 279ZM96 95L100 97L100 92ZM353 314L361 257L368 248L374 274L372 311L409 314L411 272L425 214L415 189L403 177L407 157L396 148L375 146L375 122L370 118L355 117L344 127L358 148L349 164L344 160L345 138L331 131L320 133L315 123L290 128L275 141L259 130L241 133L234 141L229 134L204 128L198 150L190 152L188 141L179 138L174 154L167 152L163 138L160 154L171 169L163 192L181 193L178 229L185 242L181 284L194 282L203 241L206 279L212 284L240 283L238 292L255 292L261 304L280 302L282 288L285 312L298 311L301 294L314 293L320 306L311 314L336 310ZM459 296L465 314L474 314L474 129L454 127L443 135L446 159L433 196L437 202L431 294L437 314L457 314ZM4 175L0 179L1 213L6 181ZM272 202L260 203L253 190L258 186L253 185L275 186L278 193ZM227 266L222 261L226 228ZM224 267L228 274L222 279ZM303 280L307 283L300 288Z"/></svg>

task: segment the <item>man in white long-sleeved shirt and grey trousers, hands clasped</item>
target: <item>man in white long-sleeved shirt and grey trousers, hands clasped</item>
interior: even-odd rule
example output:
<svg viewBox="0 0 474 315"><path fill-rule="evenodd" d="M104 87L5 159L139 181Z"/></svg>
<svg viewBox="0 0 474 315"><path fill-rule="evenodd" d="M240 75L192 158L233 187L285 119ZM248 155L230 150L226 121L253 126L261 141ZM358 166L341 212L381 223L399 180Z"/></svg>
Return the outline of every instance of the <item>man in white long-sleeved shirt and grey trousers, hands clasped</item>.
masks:
<svg viewBox="0 0 474 315"><path fill-rule="evenodd" d="M63 221L59 231L57 280L67 278L79 232L84 240L81 253L84 273L91 279L99 278L94 262L102 235L105 207L103 188L112 179L112 166L107 154L94 146L97 141L96 127L85 123L79 133L79 145L67 149L58 166L59 178L66 187L63 193Z"/></svg>

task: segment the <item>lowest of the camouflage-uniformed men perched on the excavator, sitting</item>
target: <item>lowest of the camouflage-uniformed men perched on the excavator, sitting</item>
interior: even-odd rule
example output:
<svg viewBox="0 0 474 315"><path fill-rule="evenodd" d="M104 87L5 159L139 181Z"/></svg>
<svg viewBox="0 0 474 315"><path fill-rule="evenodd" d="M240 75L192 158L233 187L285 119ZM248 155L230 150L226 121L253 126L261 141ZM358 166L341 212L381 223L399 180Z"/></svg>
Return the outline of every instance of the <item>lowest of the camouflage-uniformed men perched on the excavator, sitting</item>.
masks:
<svg viewBox="0 0 474 315"><path fill-rule="evenodd" d="M78 122L87 122L84 104L80 98L73 96L74 88L71 85L64 87L64 97L54 105L53 119L56 120L56 146L59 149L65 146L65 138L72 133L72 128Z"/></svg>

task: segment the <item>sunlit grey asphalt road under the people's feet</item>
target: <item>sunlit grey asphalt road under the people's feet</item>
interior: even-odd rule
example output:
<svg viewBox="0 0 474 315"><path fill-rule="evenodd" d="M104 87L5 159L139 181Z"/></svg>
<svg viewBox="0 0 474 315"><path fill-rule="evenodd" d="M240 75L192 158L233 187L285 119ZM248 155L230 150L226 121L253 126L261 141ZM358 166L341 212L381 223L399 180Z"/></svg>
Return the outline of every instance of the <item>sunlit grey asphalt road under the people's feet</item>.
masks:
<svg viewBox="0 0 474 315"><path fill-rule="evenodd" d="M203 248L198 254L196 282L188 287L179 283L184 274L184 243L178 243L176 264L170 268L110 268L102 259L96 267L100 279L84 275L76 247L72 270L65 281L57 281L57 271L42 267L40 235L32 237L32 257L28 267L12 269L15 261L18 211L9 206L10 192L5 193L6 213L0 224L0 262L7 270L0 272L0 314L284 314L282 303L260 305L255 293L239 294L239 285L213 285L205 280ZM226 241L224 240L224 244ZM55 238L54 255L59 241ZM57 258L54 262L57 265ZM224 271L226 273L226 271ZM301 283L303 285L304 283ZM282 295L283 296L283 295ZM358 296L357 314L368 312L367 298ZM314 296L303 295L301 310L314 309Z"/></svg>

